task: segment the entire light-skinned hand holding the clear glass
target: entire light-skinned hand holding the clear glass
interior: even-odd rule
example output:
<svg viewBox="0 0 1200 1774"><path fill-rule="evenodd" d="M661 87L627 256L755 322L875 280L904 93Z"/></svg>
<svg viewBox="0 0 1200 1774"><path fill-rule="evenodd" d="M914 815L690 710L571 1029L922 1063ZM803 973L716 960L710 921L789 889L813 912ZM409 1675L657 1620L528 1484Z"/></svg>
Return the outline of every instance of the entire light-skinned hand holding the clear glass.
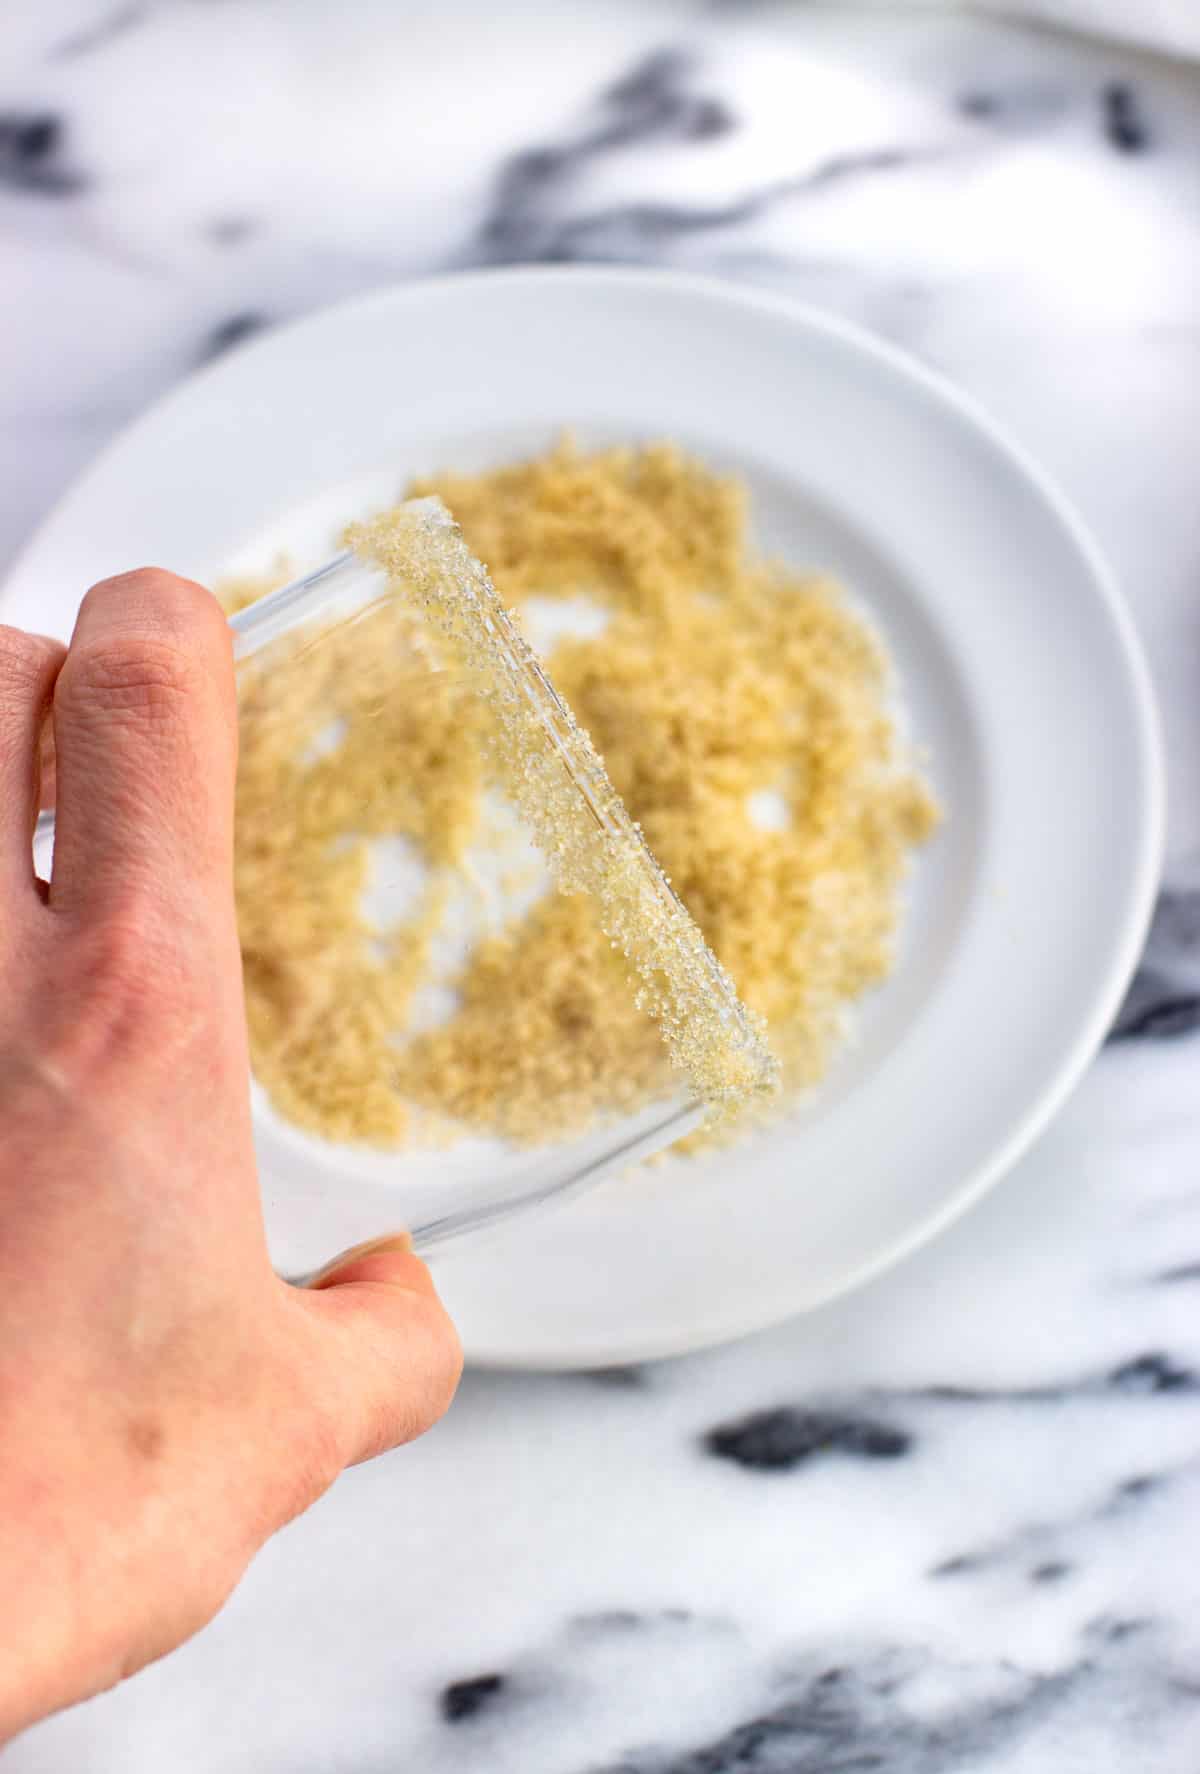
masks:
<svg viewBox="0 0 1200 1774"><path fill-rule="evenodd" d="M186 1639L458 1380L401 1240L307 1290L272 1272L234 761L229 630L199 585L96 585L67 653L0 628L0 1742Z"/></svg>

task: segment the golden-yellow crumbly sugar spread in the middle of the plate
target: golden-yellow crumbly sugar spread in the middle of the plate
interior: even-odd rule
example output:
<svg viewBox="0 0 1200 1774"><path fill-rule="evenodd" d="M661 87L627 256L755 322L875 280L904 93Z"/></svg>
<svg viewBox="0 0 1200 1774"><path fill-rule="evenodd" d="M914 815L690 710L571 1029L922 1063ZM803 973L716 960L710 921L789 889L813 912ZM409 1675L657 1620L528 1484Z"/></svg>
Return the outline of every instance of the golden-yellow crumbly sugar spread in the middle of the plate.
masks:
<svg viewBox="0 0 1200 1774"><path fill-rule="evenodd" d="M533 600L584 600L604 612L600 633L566 635L545 660L586 729L572 722L570 743L595 756L591 736L620 804L765 1020L788 1089L818 1080L847 1008L893 963L909 857L937 823L895 729L880 642L836 584L754 557L742 486L671 445L564 444L408 495L449 507L499 608L520 619ZM421 584L405 509L351 539L446 628L444 587L431 598ZM227 587L227 600L263 589ZM460 648L463 608L449 624ZM449 876L486 828L497 750L534 830L547 800L556 820L582 805L554 800L563 779L520 699L497 722L504 699L479 695L486 656L474 679L426 663L405 672L421 646L412 621L387 600L369 624L325 632L302 669L243 667L238 912L254 1068L275 1107L382 1146L437 1125L561 1137L664 1093L662 1034L710 1095L722 1066L730 1095L751 1095L753 1036L722 1045L705 1015L721 969L707 972L691 921L664 914L632 852L589 844L582 827L557 859L568 891L478 942L449 1018L398 1041ZM332 720L337 742L321 747ZM410 915L376 928L362 907L369 843L396 836L424 859L426 885ZM614 853L620 878L607 880Z"/></svg>

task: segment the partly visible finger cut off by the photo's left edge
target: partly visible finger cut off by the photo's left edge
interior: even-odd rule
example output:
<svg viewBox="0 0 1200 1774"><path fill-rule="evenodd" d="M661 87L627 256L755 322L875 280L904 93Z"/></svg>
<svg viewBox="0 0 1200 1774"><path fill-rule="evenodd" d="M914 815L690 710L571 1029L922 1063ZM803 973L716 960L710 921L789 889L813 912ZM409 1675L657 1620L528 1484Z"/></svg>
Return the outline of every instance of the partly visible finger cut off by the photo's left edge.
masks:
<svg viewBox="0 0 1200 1774"><path fill-rule="evenodd" d="M0 626L0 892L34 896L39 747L66 648Z"/></svg>

